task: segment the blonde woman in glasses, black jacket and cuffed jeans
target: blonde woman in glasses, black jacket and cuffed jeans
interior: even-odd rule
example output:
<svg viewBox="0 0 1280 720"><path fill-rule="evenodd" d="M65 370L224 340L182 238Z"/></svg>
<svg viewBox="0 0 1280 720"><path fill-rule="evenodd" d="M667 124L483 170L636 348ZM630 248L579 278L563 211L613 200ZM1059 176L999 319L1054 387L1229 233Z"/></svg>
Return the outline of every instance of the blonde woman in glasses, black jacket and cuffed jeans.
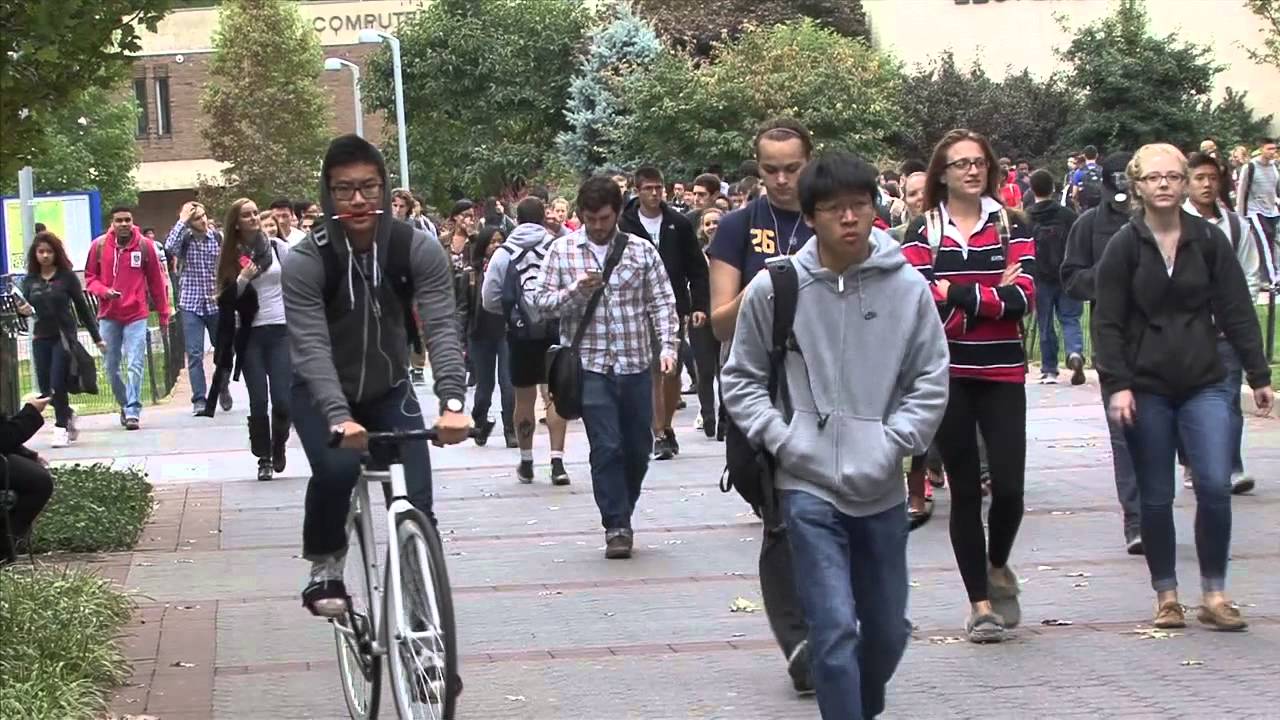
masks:
<svg viewBox="0 0 1280 720"><path fill-rule="evenodd" d="M1098 264L1094 314L1098 375L1108 413L1133 456L1142 502L1142 544L1156 591L1157 628L1183 628L1174 533L1174 456L1196 475L1196 555L1202 603L1197 619L1215 630L1243 630L1226 597L1231 544L1231 436L1219 332L1239 356L1260 415L1275 395L1244 270L1226 234L1181 205L1188 163L1172 145L1146 145L1128 168L1137 214Z"/></svg>

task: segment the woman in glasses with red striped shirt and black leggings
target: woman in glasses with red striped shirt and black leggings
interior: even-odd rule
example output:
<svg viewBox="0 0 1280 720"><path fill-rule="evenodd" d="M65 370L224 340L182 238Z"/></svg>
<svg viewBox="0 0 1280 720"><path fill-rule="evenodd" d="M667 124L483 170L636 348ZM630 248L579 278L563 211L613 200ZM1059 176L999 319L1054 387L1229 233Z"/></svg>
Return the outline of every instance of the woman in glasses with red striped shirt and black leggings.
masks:
<svg viewBox="0 0 1280 720"><path fill-rule="evenodd" d="M1004 177L986 137L948 132L927 173L924 214L908 227L902 252L933 287L951 351L951 395L936 443L951 479L951 544L972 605L965 632L970 642L993 643L1021 618L1009 556L1023 520L1020 322L1036 297L1036 246L1030 223L996 199ZM989 544L979 432L991 474Z"/></svg>

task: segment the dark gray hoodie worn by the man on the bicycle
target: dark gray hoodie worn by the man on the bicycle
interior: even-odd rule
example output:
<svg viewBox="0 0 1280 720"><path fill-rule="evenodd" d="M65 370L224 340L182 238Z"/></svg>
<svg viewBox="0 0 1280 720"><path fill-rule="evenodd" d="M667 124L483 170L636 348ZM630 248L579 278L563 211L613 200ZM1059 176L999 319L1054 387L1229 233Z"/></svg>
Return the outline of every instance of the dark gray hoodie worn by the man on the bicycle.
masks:
<svg viewBox="0 0 1280 720"><path fill-rule="evenodd" d="M346 136L339 141L358 140L352 138L355 136ZM371 145L369 149L378 154ZM381 154L378 154L378 165L383 186L390 187ZM320 173L320 206L330 218L334 204L328 176L326 158ZM352 420L352 405L381 398L402 383L406 392L412 387L408 383L404 315L387 278L392 223L398 222L392 219L390 192L383 192L383 215L371 252L353 256L342 224L325 220L321 229L308 233L284 259L282 287L293 377L307 383L316 410L332 425ZM340 287L328 305L321 243L333 246L346 269ZM430 356L435 395L442 406L447 400L462 401L466 398L466 370L453 315L449 258L439 242L431 242L426 233L415 231L410 265L413 305ZM294 413L306 411L303 407L294 409Z"/></svg>

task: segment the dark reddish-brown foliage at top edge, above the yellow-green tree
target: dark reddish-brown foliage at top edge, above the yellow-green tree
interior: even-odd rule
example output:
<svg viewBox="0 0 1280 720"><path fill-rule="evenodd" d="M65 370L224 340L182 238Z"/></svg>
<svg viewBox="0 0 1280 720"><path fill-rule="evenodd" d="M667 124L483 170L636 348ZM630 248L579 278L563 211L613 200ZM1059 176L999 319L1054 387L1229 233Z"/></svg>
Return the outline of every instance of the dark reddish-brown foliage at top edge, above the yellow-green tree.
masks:
<svg viewBox="0 0 1280 720"><path fill-rule="evenodd" d="M846 37L870 40L861 0L635 0L659 37L678 50L708 56L718 42L750 28L810 19Z"/></svg>

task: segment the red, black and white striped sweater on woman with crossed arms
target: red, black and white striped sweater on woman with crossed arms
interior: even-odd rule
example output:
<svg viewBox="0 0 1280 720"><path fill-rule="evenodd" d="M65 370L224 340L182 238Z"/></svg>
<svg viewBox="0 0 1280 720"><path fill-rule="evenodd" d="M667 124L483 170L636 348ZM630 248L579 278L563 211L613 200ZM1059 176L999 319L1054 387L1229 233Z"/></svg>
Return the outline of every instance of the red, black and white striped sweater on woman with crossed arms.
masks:
<svg viewBox="0 0 1280 720"><path fill-rule="evenodd" d="M1032 311L1036 297L1036 243L1025 218L1006 211L1009 258L1005 258L1000 208L996 200L983 197L987 220L965 242L943 204L941 242L928 237L922 215L908 225L902 254L933 287L951 350L951 377L1021 383L1027 380L1021 319ZM1018 277L1011 284L1000 286L1005 269L1015 263ZM938 292L937 283L942 279L951 283L946 296Z"/></svg>

